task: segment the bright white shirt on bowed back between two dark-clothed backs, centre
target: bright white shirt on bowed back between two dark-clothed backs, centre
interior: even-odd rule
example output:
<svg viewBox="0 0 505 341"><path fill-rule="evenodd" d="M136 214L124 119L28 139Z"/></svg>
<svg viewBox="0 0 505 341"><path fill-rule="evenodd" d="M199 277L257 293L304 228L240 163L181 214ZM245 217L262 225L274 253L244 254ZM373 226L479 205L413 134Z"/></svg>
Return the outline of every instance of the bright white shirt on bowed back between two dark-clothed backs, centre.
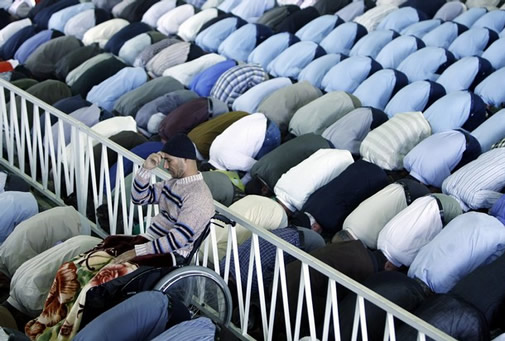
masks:
<svg viewBox="0 0 505 341"><path fill-rule="evenodd" d="M312 193L353 162L347 150L319 149L281 176L274 187L275 195L291 211L301 210Z"/></svg>

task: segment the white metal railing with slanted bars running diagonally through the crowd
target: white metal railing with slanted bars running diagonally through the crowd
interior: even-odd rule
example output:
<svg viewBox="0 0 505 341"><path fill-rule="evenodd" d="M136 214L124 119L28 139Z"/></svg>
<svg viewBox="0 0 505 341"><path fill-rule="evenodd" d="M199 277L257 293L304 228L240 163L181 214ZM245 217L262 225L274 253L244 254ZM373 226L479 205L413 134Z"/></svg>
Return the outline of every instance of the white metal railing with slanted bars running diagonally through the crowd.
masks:
<svg viewBox="0 0 505 341"><path fill-rule="evenodd" d="M7 90L7 95L4 95ZM28 104L33 105L33 122L30 124ZM43 126L41 118L43 117ZM51 118L56 120L51 124ZM64 125L70 125L70 144L65 146ZM100 136L68 115L41 102L37 98L22 91L10 83L0 79L0 164L22 176L35 188L44 193L59 205L64 205L63 196L72 192L76 193L77 206L81 214L86 216L88 205L96 210L98 206L107 203L109 213L110 233L117 231L118 218L122 218L123 231L132 234L135 221L139 224L140 232L144 232L150 224L152 216L158 213L156 206L140 207L131 203L126 197L125 174L123 174L123 162L133 162L135 173L143 159L113 143L109 139ZM56 135L53 132L56 132ZM55 140L58 143L54 143ZM56 146L55 146L56 145ZM67 148L71 154L67 154ZM95 169L94 150L101 150L99 169ZM117 153L115 191L112 191L109 179L108 151ZM152 181L167 179L169 175L159 169L153 172ZM241 217L234 215L225 206L216 203L216 210L236 221L252 233L252 244L248 264L247 285L244 288L241 281L240 260L238 257L238 242L234 226L229 226L228 240L225 256L224 272L219 268L219 257L215 230L211 228L210 237L203 245L203 257L200 264L207 266L213 264L214 270L228 282L230 277L231 259L234 259L236 277L236 290L238 299L239 323L236 326L239 333L248 338L248 320L251 312L252 301L252 276L257 276L259 287L259 305L261 311L262 337L266 340L274 338L274 315L278 297L282 302L284 319L284 331L288 340L297 340L300 335L302 323L302 309L305 302L310 336L316 338L316 323L312 309L312 292L310 290L310 271L314 270L323 274L328 280L328 292L324 311L322 339L327 340L332 328L335 339L340 340L339 306L337 301L337 283L357 294L357 304L354 316L352 340L358 338L367 340L367 328L365 317L365 301L377 305L386 312L384 321L384 340L396 340L394 319L399 319L418 330L418 340L425 340L428 336L435 340L454 340L433 326L420 320L396 304L384 299L380 295L350 279L342 273L331 268L327 264L315 259L311 255L301 251L297 247L287 243L272 233L260 229ZM121 208L121 211L119 210ZM137 217L137 218L136 218ZM91 217L95 218L95 217ZM105 232L98 224L92 224L93 231L101 236ZM261 254L259 251L260 238L267 240L276 247L276 259L272 284L271 296L268 295L263 283ZM285 254L293 256L302 262L299 295L296 302L289 302L286 282ZM280 289L279 289L280 287ZM296 304L295 316L290 316L289 305ZM292 325L292 319L295 323Z"/></svg>

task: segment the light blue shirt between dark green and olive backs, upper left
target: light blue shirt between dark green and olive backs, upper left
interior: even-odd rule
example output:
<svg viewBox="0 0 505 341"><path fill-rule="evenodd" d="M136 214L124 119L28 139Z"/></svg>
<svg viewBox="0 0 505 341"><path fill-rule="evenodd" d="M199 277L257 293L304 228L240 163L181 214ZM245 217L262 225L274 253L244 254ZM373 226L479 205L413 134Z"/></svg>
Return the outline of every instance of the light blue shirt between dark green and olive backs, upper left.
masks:
<svg viewBox="0 0 505 341"><path fill-rule="evenodd" d="M135 90L147 82L147 73L140 67L125 67L114 76L95 85L86 100L99 105L107 111L114 109L114 103L127 92Z"/></svg>

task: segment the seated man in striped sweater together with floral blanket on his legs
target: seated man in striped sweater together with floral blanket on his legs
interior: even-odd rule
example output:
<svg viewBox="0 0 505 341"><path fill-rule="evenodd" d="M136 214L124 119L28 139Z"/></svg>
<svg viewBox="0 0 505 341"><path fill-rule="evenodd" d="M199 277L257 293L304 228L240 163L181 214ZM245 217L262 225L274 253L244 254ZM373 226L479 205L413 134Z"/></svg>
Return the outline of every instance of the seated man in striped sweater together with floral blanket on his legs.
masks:
<svg viewBox="0 0 505 341"><path fill-rule="evenodd" d="M164 161L172 179L149 185L151 170ZM193 143L186 135L175 135L162 149L151 154L138 171L132 186L135 204L159 204L160 213L141 236L110 236L86 254L60 266L39 317L25 326L32 339L58 334L72 338L82 321L79 314L88 290L113 278L135 271L139 265L174 265L186 261L193 243L214 215L212 195L196 167ZM107 273L113 271L114 276ZM68 272L78 273L70 292L60 280ZM52 309L59 304L57 312ZM60 313L62 310L64 312ZM67 313L68 312L68 313ZM48 317L49 316L49 317ZM48 322L49 321L49 322ZM63 327L63 328L62 328Z"/></svg>

